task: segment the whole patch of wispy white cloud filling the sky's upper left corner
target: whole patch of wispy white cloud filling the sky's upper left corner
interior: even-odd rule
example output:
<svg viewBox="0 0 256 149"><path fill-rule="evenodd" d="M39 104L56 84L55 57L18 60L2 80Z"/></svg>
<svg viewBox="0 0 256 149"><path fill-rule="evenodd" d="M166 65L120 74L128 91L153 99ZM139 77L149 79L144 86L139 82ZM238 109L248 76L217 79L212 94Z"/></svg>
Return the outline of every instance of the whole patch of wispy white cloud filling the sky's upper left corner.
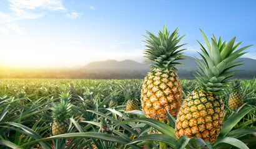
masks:
<svg viewBox="0 0 256 149"><path fill-rule="evenodd" d="M16 20L38 19L44 13L34 12L34 9L46 9L49 11L66 11L61 0L8 0L10 13L0 12L0 33L10 37L10 31L18 35L26 35L19 27Z"/></svg>

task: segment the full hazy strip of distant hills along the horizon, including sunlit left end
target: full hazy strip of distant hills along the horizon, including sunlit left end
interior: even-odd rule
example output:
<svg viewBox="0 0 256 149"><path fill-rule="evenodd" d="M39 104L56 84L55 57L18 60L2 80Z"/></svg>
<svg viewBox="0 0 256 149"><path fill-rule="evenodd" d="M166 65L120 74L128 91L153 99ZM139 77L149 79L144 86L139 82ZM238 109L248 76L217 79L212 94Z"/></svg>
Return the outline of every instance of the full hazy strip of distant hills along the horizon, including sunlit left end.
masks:
<svg viewBox="0 0 256 149"><path fill-rule="evenodd" d="M234 70L237 78L252 79L256 76L256 60L238 58L245 65ZM184 65L177 66L179 77L194 79L197 63L195 58L187 56L187 60L180 61ZM139 63L133 60L94 61L85 66L74 68L7 68L0 66L0 78L72 78L72 79L143 79L150 71L149 63Z"/></svg>

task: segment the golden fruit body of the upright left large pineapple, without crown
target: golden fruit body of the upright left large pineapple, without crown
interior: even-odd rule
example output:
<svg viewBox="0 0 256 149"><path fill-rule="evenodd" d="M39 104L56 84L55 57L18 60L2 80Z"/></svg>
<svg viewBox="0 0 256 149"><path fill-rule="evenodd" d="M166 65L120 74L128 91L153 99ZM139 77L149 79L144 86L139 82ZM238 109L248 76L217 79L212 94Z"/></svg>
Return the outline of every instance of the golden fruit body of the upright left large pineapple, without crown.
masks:
<svg viewBox="0 0 256 149"><path fill-rule="evenodd" d="M180 79L174 71L154 68L145 76L140 96L146 117L167 120L165 109L175 117L183 97Z"/></svg>

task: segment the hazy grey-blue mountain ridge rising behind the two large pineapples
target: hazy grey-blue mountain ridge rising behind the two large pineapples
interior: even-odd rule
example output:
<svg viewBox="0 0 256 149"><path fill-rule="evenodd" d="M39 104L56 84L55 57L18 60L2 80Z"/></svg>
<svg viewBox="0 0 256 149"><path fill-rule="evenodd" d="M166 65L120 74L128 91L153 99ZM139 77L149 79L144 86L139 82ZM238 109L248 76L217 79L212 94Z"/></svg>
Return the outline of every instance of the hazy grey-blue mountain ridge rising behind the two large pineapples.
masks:
<svg viewBox="0 0 256 149"><path fill-rule="evenodd" d="M256 76L256 60L252 58L237 58L237 61L241 61L244 65L237 66L234 70L242 70L236 75L238 78L246 78L252 79ZM187 56L186 60L180 61L184 63L184 65L177 66L176 68L179 70L178 75L180 78L193 79L195 70L197 70L197 63L195 58L191 56ZM105 75L111 76L115 78L115 76L119 76L118 78L122 78L122 76L126 76L130 78L129 75L132 75L132 78L144 78L147 75L147 72L150 71L148 63L142 64L133 60L124 60L124 61L116 61L116 60L107 60L107 61L94 61L85 66L82 66L81 71L84 73L104 73Z"/></svg>

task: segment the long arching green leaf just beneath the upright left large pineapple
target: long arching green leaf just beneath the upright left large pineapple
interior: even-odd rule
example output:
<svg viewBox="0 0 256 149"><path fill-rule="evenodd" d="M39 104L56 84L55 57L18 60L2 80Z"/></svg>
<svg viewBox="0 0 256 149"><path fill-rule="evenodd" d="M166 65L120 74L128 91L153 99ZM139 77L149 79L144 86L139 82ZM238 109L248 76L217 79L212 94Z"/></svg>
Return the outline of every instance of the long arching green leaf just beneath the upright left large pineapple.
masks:
<svg viewBox="0 0 256 149"><path fill-rule="evenodd" d="M133 119L124 120L122 122L119 122L116 125L121 125L121 124L129 123L129 122L145 123L147 125L150 125L150 126L154 127L155 129L159 130L160 132L164 133L165 135L170 135L171 137L176 138L176 135L174 133L174 129L172 127L170 127L167 124L164 124L163 122L160 122L159 120L155 120L155 119L137 117L137 118L133 118Z"/></svg>

